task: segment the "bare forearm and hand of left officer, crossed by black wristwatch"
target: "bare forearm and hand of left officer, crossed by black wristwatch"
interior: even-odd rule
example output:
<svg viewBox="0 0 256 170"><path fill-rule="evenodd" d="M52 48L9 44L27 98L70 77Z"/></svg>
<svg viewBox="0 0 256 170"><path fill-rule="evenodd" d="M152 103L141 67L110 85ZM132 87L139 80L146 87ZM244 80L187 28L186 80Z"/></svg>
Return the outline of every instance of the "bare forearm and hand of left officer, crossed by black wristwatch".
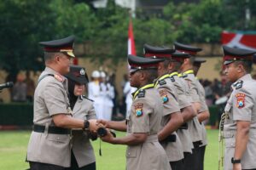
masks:
<svg viewBox="0 0 256 170"><path fill-rule="evenodd" d="M65 128L84 128L84 120L76 119L67 114L56 114L53 117L56 127ZM96 120L88 120L90 122L90 131L96 131Z"/></svg>

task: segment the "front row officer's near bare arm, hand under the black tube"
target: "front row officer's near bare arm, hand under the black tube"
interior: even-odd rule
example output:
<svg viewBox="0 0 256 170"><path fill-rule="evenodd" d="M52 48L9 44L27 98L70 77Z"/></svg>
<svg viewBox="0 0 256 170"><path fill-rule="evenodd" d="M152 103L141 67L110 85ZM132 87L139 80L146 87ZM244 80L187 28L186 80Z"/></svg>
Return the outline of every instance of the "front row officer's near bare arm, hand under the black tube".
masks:
<svg viewBox="0 0 256 170"><path fill-rule="evenodd" d="M110 144L136 145L142 144L147 138L148 133L131 133L123 138L113 138L113 135L108 131L108 135L102 137L102 140Z"/></svg>

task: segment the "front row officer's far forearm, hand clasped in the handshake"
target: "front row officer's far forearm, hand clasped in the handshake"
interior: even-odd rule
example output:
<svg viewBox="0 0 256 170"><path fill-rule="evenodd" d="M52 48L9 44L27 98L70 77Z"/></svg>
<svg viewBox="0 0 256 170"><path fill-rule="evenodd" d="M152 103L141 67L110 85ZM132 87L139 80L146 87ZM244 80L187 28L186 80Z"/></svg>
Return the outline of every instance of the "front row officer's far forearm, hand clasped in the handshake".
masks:
<svg viewBox="0 0 256 170"><path fill-rule="evenodd" d="M125 121L107 121L107 120L97 120L97 125L102 124L106 128L111 128L113 130L121 131L121 132L126 132L126 123Z"/></svg>

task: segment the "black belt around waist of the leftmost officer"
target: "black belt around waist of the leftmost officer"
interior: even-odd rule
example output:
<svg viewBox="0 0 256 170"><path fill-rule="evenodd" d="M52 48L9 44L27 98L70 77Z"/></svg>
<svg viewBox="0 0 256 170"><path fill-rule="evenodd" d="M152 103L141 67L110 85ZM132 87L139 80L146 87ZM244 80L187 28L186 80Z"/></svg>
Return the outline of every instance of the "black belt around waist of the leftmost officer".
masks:
<svg viewBox="0 0 256 170"><path fill-rule="evenodd" d="M33 131L37 133L44 133L45 126L42 125L34 125ZM62 127L48 127L48 133L53 134L70 134L71 130L68 128L62 128Z"/></svg>

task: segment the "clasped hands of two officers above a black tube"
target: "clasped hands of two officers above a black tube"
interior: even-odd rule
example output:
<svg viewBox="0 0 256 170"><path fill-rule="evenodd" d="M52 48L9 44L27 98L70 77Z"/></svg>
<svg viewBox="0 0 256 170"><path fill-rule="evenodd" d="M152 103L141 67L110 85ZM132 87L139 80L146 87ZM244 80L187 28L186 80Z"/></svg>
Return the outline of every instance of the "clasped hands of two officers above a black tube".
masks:
<svg viewBox="0 0 256 170"><path fill-rule="evenodd" d="M99 137L105 137L109 133L112 134L112 136L115 138L116 134L113 133L112 131L108 130L107 128L107 122L105 120L96 120L96 119L91 119L88 121L89 122L89 131L90 133L96 133ZM85 127L84 123L84 127Z"/></svg>

